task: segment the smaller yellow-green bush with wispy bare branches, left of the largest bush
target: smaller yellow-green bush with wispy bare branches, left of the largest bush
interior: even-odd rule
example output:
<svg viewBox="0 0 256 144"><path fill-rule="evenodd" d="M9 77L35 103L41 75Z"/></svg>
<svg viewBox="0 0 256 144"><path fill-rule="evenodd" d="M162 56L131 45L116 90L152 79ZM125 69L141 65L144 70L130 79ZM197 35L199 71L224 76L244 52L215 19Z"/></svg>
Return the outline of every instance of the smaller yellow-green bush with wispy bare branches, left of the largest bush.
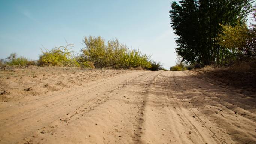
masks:
<svg viewBox="0 0 256 144"><path fill-rule="evenodd" d="M68 47L73 47L74 45L68 44L60 47L55 47L52 50L45 48L42 49L42 55L39 56L38 65L39 66L64 66L64 67L76 67L80 66L79 63L73 56L73 51L69 51Z"/></svg>

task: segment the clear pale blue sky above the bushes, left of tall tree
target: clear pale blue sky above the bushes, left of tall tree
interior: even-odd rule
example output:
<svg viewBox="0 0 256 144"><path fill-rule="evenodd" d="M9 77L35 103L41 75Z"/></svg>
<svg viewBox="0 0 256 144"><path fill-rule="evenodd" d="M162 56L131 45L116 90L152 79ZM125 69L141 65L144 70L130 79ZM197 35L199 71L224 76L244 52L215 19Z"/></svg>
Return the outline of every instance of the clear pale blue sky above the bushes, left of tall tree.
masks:
<svg viewBox="0 0 256 144"><path fill-rule="evenodd" d="M40 47L73 43L84 36L118 38L165 68L175 64L175 36L169 25L173 0L0 0L0 58L12 52L37 59ZM64 39L65 38L65 39Z"/></svg>

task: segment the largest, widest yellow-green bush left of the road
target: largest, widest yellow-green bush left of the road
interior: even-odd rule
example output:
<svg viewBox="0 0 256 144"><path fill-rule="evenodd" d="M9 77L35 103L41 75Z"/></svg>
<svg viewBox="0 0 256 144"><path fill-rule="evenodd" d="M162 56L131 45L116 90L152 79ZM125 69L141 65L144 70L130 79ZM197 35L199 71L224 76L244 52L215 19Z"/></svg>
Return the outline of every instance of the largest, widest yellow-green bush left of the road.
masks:
<svg viewBox="0 0 256 144"><path fill-rule="evenodd" d="M85 37L83 40L85 48L82 49L82 55L79 56L81 62L93 62L96 68L150 68L150 56L141 53L140 50L129 49L118 39L109 40L105 45L105 40L98 37Z"/></svg>

